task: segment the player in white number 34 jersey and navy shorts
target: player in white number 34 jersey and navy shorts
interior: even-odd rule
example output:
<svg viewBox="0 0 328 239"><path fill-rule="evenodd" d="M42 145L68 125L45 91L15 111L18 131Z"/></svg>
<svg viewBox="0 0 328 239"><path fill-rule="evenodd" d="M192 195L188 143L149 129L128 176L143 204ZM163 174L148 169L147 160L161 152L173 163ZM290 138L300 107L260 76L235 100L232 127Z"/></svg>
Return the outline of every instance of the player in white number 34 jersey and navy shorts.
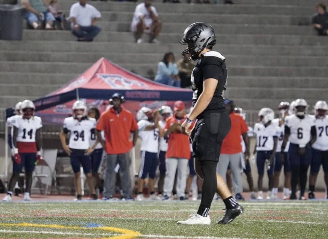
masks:
<svg viewBox="0 0 328 239"><path fill-rule="evenodd" d="M76 200L82 199L80 165L87 177L91 190L91 199L97 199L95 194L95 182L91 174L90 154L95 145L90 145L91 131L96 126L96 120L86 116L87 107L83 101L75 101L73 104L74 117L64 120L63 129L60 132L60 140L66 153L71 156L71 165L75 174ZM65 135L70 133L69 145L66 144Z"/></svg>

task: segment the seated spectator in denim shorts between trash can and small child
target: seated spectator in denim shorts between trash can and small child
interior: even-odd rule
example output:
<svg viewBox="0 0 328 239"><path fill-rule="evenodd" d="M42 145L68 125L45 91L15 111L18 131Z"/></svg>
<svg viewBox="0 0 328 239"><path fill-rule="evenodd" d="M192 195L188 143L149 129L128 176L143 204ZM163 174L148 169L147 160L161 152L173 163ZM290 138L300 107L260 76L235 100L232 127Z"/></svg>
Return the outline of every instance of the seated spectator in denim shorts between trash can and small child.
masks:
<svg viewBox="0 0 328 239"><path fill-rule="evenodd" d="M40 29L39 21L45 23L45 29L53 29L55 18L47 10L48 0L22 0L21 4L26 7L25 18L33 29Z"/></svg>

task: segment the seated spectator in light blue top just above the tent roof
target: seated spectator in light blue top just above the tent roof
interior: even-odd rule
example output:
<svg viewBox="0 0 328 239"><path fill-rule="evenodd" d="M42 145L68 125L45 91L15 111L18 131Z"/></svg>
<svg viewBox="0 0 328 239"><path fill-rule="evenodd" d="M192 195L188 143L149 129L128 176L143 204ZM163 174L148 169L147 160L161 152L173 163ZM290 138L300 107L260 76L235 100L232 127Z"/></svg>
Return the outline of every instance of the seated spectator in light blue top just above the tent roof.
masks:
<svg viewBox="0 0 328 239"><path fill-rule="evenodd" d="M172 52L165 53L163 61L158 63L157 75L154 81L176 87L181 86L179 70L174 63L174 54Z"/></svg>

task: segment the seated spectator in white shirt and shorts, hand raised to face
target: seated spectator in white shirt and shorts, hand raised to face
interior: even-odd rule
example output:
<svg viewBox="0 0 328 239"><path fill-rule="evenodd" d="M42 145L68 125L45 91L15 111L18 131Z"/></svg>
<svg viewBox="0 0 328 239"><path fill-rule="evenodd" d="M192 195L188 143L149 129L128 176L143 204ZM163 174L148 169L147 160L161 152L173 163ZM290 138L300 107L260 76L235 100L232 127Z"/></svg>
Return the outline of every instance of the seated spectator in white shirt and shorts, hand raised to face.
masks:
<svg viewBox="0 0 328 239"><path fill-rule="evenodd" d="M150 33L153 35L152 43L158 43L157 37L162 30L162 22L158 19L158 14L152 0L145 0L135 7L131 23L131 31L134 32L137 43L142 43L142 34Z"/></svg>

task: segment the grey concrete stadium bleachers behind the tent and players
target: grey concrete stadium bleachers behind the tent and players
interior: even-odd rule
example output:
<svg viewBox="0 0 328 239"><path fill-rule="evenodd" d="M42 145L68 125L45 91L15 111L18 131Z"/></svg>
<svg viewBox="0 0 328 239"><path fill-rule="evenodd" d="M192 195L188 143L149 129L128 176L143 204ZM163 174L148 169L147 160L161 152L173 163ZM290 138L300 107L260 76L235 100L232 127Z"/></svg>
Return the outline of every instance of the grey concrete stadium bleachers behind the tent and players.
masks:
<svg viewBox="0 0 328 239"><path fill-rule="evenodd" d="M220 0L222 2L222 0ZM76 1L61 0L68 15ZM180 58L183 30L196 21L213 25L215 50L229 68L226 97L248 113L279 101L304 98L313 105L328 87L328 41L308 26L315 2L235 0L234 5L154 2L163 32L160 44L135 44L129 32L135 3L89 3L99 9L102 32L92 43L76 42L70 31L24 29L24 40L0 41L0 109L36 99L67 83L100 57L153 78L167 51ZM263 4L262 6L260 4Z"/></svg>

